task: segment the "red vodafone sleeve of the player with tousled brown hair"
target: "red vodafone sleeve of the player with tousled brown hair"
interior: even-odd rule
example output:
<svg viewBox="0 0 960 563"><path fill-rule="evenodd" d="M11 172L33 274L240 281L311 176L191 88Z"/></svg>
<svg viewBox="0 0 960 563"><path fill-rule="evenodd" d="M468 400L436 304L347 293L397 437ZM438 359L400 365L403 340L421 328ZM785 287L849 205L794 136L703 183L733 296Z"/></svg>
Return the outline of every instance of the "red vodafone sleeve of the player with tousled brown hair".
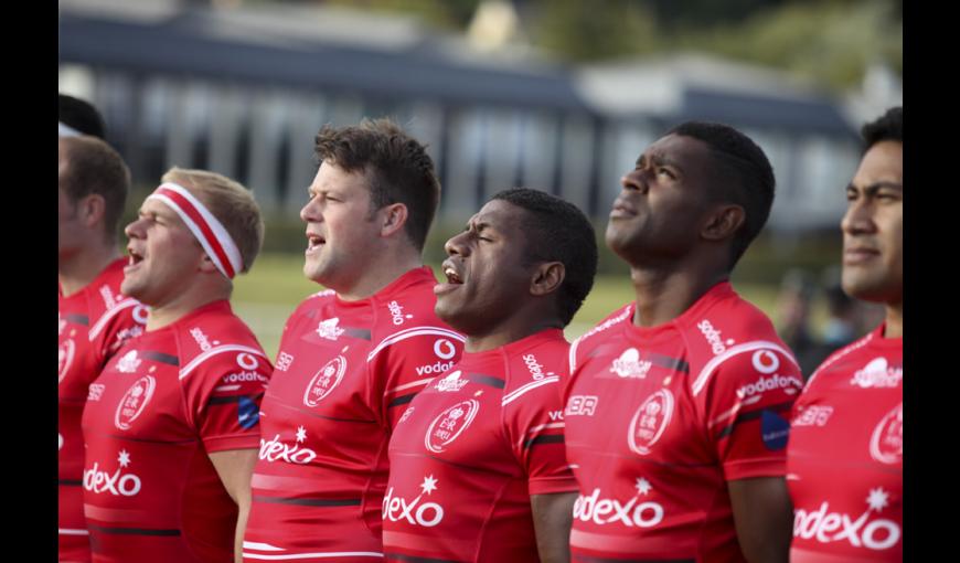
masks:
<svg viewBox="0 0 960 563"><path fill-rule="evenodd" d="M393 429L410 401L463 352L463 337L439 327L416 327L384 339L367 355L371 405Z"/></svg>

